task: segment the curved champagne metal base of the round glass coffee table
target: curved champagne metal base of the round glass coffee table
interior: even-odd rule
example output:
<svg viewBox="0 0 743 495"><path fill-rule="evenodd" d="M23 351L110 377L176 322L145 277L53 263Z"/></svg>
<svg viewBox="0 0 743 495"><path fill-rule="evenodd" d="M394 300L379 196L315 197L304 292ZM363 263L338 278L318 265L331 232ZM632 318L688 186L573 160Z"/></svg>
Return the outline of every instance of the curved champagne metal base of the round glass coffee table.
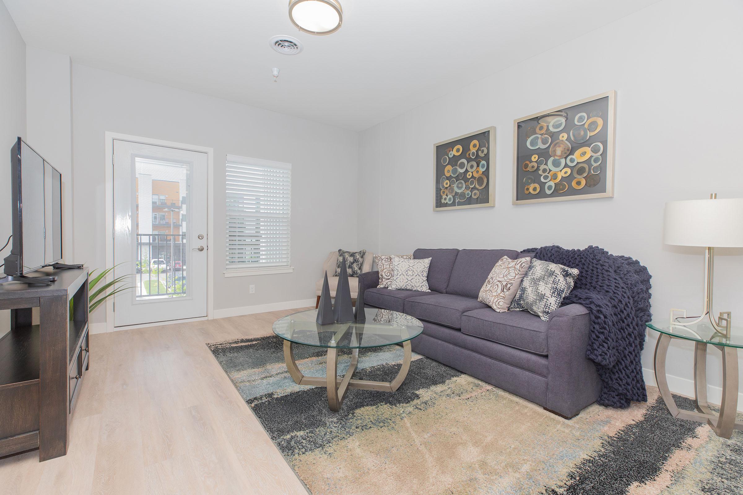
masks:
<svg viewBox="0 0 743 495"><path fill-rule="evenodd" d="M294 361L292 353L292 342L284 341L284 360L286 369L289 370L291 378L299 385L311 385L314 387L328 388L328 407L332 411L340 410L340 404L343 404L343 398L349 388L362 388L365 390L384 390L386 392L395 392L403 383L403 380L410 369L410 341L403 342L405 357L403 366L400 367L400 373L392 381L371 381L356 380L353 377L356 366L359 362L359 350L354 349L351 354L351 365L343 377L338 376L338 350L334 347L328 347L328 371L326 376L304 376Z"/></svg>

